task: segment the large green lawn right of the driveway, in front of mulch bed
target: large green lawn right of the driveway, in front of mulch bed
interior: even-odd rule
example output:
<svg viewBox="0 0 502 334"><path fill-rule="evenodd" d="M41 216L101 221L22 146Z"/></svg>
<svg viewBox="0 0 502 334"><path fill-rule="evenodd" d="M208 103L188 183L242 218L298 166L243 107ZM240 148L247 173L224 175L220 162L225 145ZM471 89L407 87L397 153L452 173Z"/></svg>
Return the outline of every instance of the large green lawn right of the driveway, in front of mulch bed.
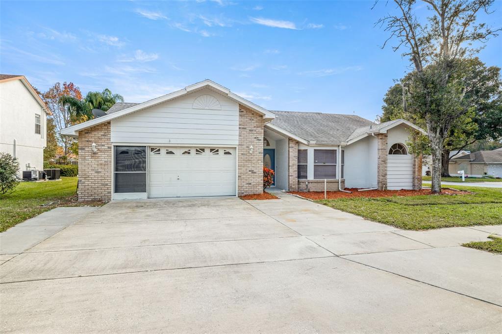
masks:
<svg viewBox="0 0 502 334"><path fill-rule="evenodd" d="M316 202L406 230L502 224L502 189L448 187L474 194L345 198Z"/></svg>

